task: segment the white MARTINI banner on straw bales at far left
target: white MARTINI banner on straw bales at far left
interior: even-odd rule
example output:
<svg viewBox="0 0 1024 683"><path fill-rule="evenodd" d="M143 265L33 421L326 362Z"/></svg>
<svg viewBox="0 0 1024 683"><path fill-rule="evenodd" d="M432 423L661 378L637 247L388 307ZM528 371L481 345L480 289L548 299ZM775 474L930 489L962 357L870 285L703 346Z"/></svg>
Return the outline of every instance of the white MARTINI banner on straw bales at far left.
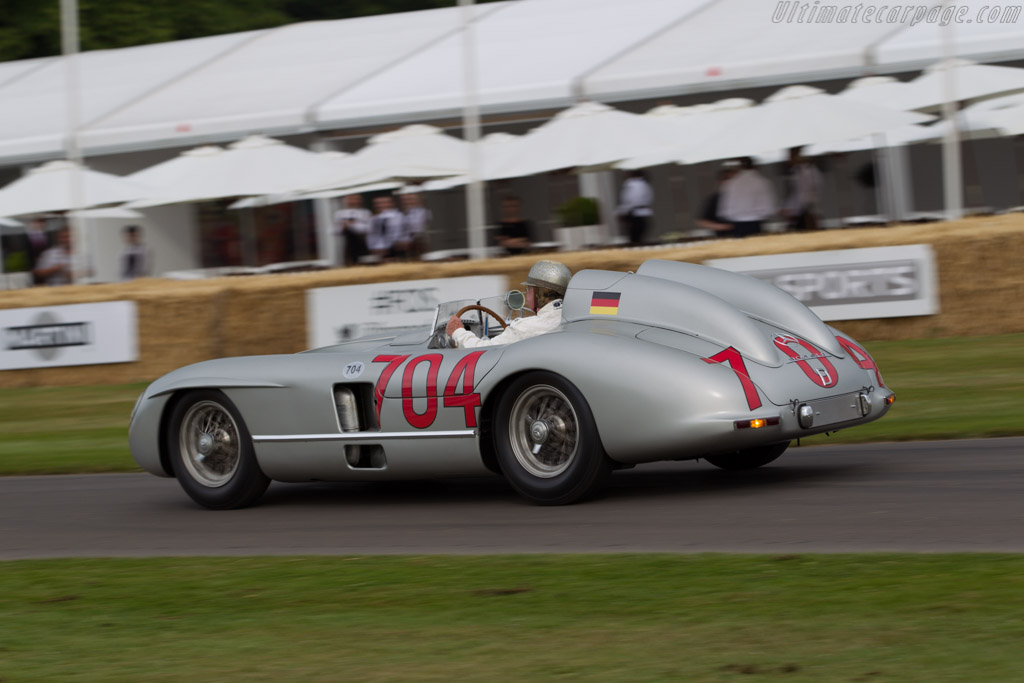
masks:
<svg viewBox="0 0 1024 683"><path fill-rule="evenodd" d="M137 359L134 301L0 310L0 370Z"/></svg>

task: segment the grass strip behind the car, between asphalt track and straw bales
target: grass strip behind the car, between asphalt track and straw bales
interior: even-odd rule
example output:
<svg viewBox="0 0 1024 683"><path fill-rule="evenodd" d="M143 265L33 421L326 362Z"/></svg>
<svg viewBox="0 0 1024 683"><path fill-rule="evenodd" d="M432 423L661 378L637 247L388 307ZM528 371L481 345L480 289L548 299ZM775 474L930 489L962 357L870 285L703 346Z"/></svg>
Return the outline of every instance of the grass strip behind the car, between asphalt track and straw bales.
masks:
<svg viewBox="0 0 1024 683"><path fill-rule="evenodd" d="M896 391L884 419L804 444L1024 434L1024 335L874 342ZM144 384L0 391L0 475L124 472Z"/></svg>

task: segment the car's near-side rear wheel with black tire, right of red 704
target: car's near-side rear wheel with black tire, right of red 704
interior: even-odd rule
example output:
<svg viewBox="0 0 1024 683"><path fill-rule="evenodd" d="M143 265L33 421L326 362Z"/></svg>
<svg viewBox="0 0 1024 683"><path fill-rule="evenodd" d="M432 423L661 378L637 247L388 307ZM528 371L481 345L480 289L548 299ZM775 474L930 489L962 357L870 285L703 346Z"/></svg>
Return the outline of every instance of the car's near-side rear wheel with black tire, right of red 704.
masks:
<svg viewBox="0 0 1024 683"><path fill-rule="evenodd" d="M611 474L587 400L554 373L531 372L509 385L494 437L505 478L534 503L574 503L600 492Z"/></svg>

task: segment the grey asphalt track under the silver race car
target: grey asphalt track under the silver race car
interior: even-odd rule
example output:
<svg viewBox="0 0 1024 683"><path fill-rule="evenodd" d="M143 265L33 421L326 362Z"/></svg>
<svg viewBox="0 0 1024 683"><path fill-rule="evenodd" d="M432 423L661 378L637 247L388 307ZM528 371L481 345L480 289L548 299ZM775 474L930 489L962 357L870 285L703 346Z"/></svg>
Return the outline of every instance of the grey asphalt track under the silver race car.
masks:
<svg viewBox="0 0 1024 683"><path fill-rule="evenodd" d="M211 512L148 474L0 478L0 559L581 552L1024 552L1024 438L791 449L616 472L545 508L498 477L272 484Z"/></svg>

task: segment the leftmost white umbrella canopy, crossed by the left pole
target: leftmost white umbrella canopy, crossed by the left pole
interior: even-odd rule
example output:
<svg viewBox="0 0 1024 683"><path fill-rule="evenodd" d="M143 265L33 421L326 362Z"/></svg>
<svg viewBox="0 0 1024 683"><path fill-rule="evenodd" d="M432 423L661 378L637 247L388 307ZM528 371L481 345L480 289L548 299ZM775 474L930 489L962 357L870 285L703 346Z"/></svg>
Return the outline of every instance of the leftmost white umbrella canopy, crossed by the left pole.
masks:
<svg viewBox="0 0 1024 683"><path fill-rule="evenodd" d="M80 173L81 197L73 190ZM69 161L53 161L29 171L0 189L0 216L68 211L104 204L123 204L153 190L119 175L101 173Z"/></svg>

